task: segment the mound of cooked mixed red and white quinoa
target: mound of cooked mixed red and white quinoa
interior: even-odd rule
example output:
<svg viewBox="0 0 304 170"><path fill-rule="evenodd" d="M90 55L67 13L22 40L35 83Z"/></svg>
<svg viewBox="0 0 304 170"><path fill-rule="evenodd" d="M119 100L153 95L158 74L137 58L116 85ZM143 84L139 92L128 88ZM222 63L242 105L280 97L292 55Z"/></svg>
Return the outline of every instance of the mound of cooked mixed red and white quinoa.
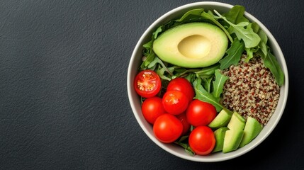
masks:
<svg viewBox="0 0 304 170"><path fill-rule="evenodd" d="M246 55L237 66L223 70L230 77L223 88L221 103L230 111L236 111L245 119L255 118L265 126L276 110L280 86L276 84L270 70L264 67L261 57L244 62Z"/></svg>

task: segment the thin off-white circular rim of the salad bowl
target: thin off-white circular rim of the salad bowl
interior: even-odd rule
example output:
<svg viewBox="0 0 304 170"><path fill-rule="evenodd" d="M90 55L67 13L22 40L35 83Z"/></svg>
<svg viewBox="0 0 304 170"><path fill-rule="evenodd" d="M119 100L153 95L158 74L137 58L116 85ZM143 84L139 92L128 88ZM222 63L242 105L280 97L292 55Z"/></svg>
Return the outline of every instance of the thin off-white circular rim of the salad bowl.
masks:
<svg viewBox="0 0 304 170"><path fill-rule="evenodd" d="M150 134L150 132L148 132L147 128L145 128L145 125L140 121L140 117L137 114L136 111L136 107L134 105L135 101L133 98L133 94L131 93L131 91L133 91L133 79L132 79L132 75L131 72L133 70L133 63L135 62L135 57L136 57L136 53L137 50L141 48L142 46L142 42L143 40L146 38L146 36L151 33L152 29L156 28L156 26L159 24L160 21L163 21L165 18L169 17L171 14L174 14L178 11L181 11L184 8L196 8L197 6L217 6L217 7L223 7L223 8L232 8L233 5L231 4L226 4L226 3L222 3L222 2L215 2L215 1L201 1L201 2L194 2L194 3L190 3L190 4L185 4L182 6L179 6L177 8L173 8L171 11L168 11L167 13L164 13L162 16L160 16L159 18L157 18L156 21L154 21L146 30L145 32L141 35L140 40L138 40L132 56L130 58L130 62L128 65L128 77L127 77L127 88L128 88L128 98L130 101L130 106L132 108L133 114L135 115L135 118L137 120L137 123L139 123L140 127L142 128L142 130L145 132L145 134L150 138L150 140L152 140L156 145L158 145L159 147L161 147L162 149L166 150L167 152L174 154L176 157L180 157L182 159L187 159L193 162L221 162L221 161L225 161L228 159L233 159L235 157L240 157L242 154L246 154L247 152L251 151L252 149L254 149L255 147L257 147L261 142L263 142L266 137L268 137L271 132L274 130L274 128L276 127L276 125L278 124L278 121L281 119L281 116L283 115L283 111L286 107L286 103L287 103L287 98L288 98L288 86L289 86L289 81L288 81L288 69L286 66L286 61L285 58L283 56L283 52L281 51L281 47L278 45L278 42L276 41L276 39L274 38L274 36L270 33L270 31L264 26L263 23L261 23L257 18L255 18L254 16L252 16L250 13L248 13L247 11L244 12L244 16L246 16L247 18L249 18L250 20L254 20L255 22L258 23L258 25L260 26L260 28L262 30L264 30L264 32L266 33L266 35L268 36L269 40L271 40L272 42L272 49L276 48L277 53L280 56L280 60L281 60L281 68L284 72L284 84L283 86L281 86L281 90L282 88L284 88L283 94L281 94L280 92L280 98L281 95L283 96L283 105L281 105L278 113L279 115L276 117L276 120L274 120L274 124L271 125L271 127L269 128L269 130L266 132L266 134L262 137L259 138L259 140L257 140L254 145L250 145L247 147L242 147L242 151L241 152L235 152L235 154L229 154L227 153L227 157L216 157L216 158L208 158L208 156L204 157L204 156L190 156L190 155L186 155L186 154L181 154L179 152L175 152L172 149L169 149L169 147L167 147L168 144L164 144L162 142L159 142L159 140L157 140L154 135ZM278 107L277 107L278 108ZM230 152L232 153L232 152Z"/></svg>

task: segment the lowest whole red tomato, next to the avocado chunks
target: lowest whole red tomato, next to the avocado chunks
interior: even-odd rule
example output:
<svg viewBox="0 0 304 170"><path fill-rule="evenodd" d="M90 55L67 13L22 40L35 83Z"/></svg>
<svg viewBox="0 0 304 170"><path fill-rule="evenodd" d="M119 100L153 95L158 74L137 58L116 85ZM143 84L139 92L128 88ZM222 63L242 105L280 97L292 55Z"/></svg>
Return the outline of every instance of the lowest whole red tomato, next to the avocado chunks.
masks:
<svg viewBox="0 0 304 170"><path fill-rule="evenodd" d="M188 141L193 152L199 155L210 154L215 147L215 137L208 126L199 126L192 130Z"/></svg>

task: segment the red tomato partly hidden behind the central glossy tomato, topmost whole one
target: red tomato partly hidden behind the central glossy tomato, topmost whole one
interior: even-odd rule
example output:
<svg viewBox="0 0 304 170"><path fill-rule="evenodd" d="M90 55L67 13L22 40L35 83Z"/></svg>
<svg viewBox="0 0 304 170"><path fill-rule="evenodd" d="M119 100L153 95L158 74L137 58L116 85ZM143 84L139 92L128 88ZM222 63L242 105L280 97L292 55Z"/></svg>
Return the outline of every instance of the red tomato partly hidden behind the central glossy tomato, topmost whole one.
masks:
<svg viewBox="0 0 304 170"><path fill-rule="evenodd" d="M169 82L167 86L167 91L172 91L172 90L183 92L183 94L185 94L188 97L189 102L192 101L195 95L191 83L187 79L181 77L172 79Z"/></svg>

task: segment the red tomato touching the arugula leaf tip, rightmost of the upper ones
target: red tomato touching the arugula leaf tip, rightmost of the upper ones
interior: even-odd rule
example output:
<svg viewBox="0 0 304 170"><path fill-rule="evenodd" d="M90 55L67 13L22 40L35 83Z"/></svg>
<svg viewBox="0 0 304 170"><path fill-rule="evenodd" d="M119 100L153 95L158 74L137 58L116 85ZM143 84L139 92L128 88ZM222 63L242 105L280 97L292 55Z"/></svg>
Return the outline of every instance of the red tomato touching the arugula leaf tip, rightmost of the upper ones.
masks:
<svg viewBox="0 0 304 170"><path fill-rule="evenodd" d="M216 116L215 107L200 100L193 100L186 111L188 123L197 127L208 125Z"/></svg>

